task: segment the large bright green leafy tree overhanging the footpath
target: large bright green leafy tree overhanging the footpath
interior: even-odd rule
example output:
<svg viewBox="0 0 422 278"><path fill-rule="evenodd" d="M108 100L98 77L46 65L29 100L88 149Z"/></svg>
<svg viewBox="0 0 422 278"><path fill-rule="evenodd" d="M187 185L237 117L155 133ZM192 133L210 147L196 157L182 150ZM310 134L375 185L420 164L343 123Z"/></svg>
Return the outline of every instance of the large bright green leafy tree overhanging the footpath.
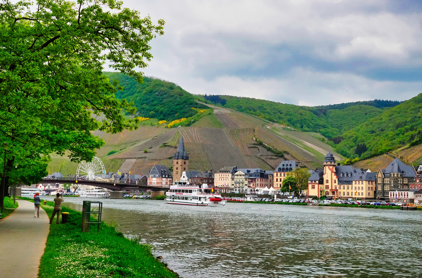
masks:
<svg viewBox="0 0 422 278"><path fill-rule="evenodd" d="M90 131L137 128L138 120L121 111L136 108L116 99L121 87L102 74L103 64L142 82L134 68L147 66L149 42L163 34L164 21L154 25L121 6L114 0L0 4L0 142L9 144L4 192L12 182L45 176L50 153L92 160L104 142ZM100 114L106 120L96 120Z"/></svg>

